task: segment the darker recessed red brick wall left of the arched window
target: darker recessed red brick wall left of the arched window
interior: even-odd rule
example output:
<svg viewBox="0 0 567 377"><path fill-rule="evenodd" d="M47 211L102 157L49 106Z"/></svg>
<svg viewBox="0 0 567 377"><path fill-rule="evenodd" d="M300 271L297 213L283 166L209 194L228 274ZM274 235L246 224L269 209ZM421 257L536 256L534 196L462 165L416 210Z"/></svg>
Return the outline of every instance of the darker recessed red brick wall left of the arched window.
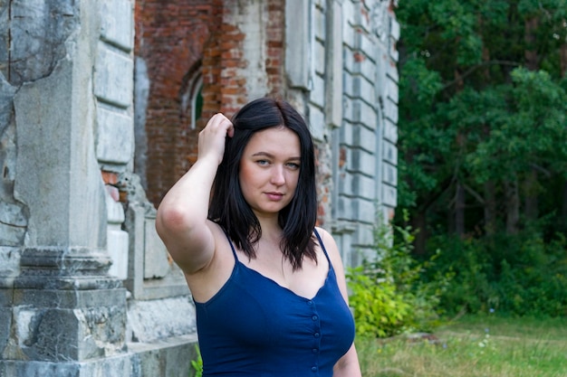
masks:
<svg viewBox="0 0 567 377"><path fill-rule="evenodd" d="M149 201L158 204L187 171L197 146L190 129L191 108L182 107L187 75L203 61L203 49L220 24L221 1L138 0L135 54L146 61Z"/></svg>

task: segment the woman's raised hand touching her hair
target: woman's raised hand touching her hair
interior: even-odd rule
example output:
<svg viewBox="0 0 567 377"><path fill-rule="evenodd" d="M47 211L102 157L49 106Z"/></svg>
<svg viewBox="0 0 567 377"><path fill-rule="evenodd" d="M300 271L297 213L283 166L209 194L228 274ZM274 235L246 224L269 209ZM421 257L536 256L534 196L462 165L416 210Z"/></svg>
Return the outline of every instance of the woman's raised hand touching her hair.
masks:
<svg viewBox="0 0 567 377"><path fill-rule="evenodd" d="M214 158L220 165L225 154L226 137L233 137L235 127L223 114L215 114L199 133L197 159Z"/></svg>

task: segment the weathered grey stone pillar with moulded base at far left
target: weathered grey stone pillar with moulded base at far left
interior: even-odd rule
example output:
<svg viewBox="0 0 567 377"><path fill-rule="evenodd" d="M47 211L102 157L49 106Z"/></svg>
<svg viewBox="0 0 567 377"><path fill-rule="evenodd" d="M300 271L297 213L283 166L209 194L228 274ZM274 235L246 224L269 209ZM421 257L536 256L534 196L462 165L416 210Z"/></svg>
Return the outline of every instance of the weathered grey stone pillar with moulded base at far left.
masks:
<svg viewBox="0 0 567 377"><path fill-rule="evenodd" d="M0 376L131 374L95 152L98 5L0 1L0 204L14 230L1 244Z"/></svg>

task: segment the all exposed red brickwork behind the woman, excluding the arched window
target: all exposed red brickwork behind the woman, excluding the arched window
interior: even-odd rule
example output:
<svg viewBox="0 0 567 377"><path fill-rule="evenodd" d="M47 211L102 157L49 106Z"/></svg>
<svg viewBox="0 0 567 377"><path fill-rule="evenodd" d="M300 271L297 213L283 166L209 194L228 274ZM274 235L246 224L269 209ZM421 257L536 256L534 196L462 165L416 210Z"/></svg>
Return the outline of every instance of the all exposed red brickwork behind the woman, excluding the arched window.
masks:
<svg viewBox="0 0 567 377"><path fill-rule="evenodd" d="M226 3L226 6L225 6ZM149 201L156 206L197 159L197 136L216 112L232 116L247 102L247 62L238 25L226 24L234 0L138 0L135 54L146 61ZM268 0L265 29L266 77L270 95L283 97L284 0ZM262 48L258 46L258 48ZM200 70L203 112L190 129L190 108L182 107L187 77Z"/></svg>

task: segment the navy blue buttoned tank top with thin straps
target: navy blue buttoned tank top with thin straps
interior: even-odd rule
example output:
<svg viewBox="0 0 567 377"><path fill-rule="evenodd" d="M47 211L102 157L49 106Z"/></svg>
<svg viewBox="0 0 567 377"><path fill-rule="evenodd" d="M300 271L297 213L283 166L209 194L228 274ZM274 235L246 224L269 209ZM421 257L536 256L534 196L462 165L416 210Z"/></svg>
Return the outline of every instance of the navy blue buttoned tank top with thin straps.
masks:
<svg viewBox="0 0 567 377"><path fill-rule="evenodd" d="M195 302L203 376L332 377L354 339L354 320L334 269L315 297L304 298L249 269L236 257L226 284Z"/></svg>

